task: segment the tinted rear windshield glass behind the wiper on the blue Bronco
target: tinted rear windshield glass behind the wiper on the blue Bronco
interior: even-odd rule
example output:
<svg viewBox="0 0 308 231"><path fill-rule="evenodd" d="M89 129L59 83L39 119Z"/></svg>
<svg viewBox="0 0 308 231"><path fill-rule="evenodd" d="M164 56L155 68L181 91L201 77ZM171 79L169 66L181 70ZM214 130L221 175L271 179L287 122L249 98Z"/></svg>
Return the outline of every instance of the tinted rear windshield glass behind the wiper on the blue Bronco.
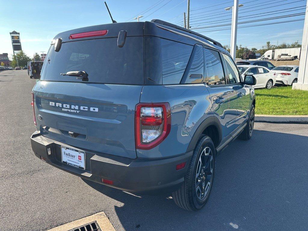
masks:
<svg viewBox="0 0 308 231"><path fill-rule="evenodd" d="M59 52L52 45L45 63L42 80L142 85L143 37L127 37L122 48L118 47L117 38L62 43ZM85 71L89 81L60 75L68 71Z"/></svg>

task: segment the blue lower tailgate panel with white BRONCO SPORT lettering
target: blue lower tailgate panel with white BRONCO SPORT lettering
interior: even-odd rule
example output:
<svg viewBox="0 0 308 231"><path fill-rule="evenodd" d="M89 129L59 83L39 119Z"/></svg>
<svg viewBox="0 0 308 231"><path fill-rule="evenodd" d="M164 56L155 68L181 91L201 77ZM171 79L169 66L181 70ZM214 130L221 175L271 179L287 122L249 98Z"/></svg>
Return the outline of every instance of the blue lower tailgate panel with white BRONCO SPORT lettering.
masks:
<svg viewBox="0 0 308 231"><path fill-rule="evenodd" d="M141 90L134 85L39 81L33 91L37 128L73 147L136 158L134 112Z"/></svg>

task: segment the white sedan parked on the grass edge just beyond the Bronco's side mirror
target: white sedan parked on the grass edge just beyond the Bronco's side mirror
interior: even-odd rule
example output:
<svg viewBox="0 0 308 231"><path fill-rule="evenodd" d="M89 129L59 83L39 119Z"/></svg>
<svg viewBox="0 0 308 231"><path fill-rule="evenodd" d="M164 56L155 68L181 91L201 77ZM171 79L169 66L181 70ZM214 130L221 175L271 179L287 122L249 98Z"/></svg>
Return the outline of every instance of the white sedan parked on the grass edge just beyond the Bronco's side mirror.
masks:
<svg viewBox="0 0 308 231"><path fill-rule="evenodd" d="M254 88L265 87L267 89L270 89L276 83L274 72L270 71L270 69L266 67L255 66L255 65L239 65L237 67L240 70L243 78L245 75L248 75L248 73L256 77L257 84L254 85Z"/></svg>

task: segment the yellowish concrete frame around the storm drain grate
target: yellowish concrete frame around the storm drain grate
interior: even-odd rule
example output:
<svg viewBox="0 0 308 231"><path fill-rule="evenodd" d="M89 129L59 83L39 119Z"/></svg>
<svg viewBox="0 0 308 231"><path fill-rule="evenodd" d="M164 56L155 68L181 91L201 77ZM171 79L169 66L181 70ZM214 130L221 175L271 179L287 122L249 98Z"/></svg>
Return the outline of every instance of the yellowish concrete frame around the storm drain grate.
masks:
<svg viewBox="0 0 308 231"><path fill-rule="evenodd" d="M95 221L97 222L97 224L99 225L99 228L101 230L115 231L115 229L111 225L108 217L106 216L106 214L104 212L95 213L91 216L83 217L79 220L72 221L72 222L60 225L58 227L48 229L46 231L69 231L71 229L75 229L75 228L78 228L82 225L87 225L87 224L89 224L91 222L95 222Z"/></svg>

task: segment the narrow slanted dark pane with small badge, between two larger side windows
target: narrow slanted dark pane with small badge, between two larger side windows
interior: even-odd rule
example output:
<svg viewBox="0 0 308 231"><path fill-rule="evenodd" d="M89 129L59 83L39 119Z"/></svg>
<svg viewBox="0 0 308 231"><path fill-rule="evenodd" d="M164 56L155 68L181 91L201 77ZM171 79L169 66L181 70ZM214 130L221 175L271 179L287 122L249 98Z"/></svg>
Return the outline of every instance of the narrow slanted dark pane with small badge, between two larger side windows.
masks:
<svg viewBox="0 0 308 231"><path fill-rule="evenodd" d="M188 62L183 83L202 83L204 72L203 47L195 45Z"/></svg>

